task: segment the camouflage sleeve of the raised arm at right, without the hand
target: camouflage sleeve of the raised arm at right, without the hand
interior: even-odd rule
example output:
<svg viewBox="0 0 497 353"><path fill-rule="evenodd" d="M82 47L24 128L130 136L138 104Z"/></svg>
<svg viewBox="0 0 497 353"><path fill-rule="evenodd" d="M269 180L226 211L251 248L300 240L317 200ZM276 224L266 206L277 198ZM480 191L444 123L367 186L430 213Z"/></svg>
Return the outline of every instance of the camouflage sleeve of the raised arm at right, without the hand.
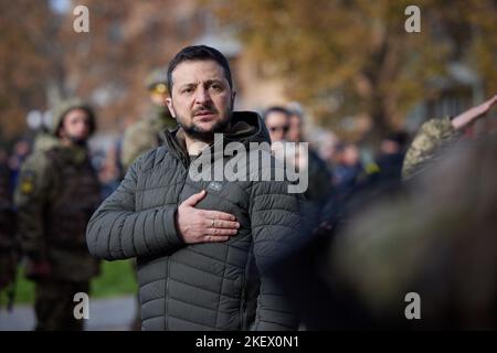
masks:
<svg viewBox="0 0 497 353"><path fill-rule="evenodd" d="M402 179L409 180L422 172L441 152L457 141L461 132L455 130L450 118L424 122L405 153Z"/></svg>

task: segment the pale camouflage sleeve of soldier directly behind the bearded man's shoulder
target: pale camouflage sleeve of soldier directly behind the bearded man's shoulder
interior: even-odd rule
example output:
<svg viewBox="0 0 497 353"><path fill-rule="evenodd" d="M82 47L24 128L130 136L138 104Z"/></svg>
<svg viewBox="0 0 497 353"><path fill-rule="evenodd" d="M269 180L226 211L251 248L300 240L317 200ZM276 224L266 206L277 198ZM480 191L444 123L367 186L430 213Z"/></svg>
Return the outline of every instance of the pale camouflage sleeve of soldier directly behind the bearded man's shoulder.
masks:
<svg viewBox="0 0 497 353"><path fill-rule="evenodd" d="M125 170L142 153L154 148L157 138L146 128L144 121L131 125L123 138L120 161Z"/></svg>

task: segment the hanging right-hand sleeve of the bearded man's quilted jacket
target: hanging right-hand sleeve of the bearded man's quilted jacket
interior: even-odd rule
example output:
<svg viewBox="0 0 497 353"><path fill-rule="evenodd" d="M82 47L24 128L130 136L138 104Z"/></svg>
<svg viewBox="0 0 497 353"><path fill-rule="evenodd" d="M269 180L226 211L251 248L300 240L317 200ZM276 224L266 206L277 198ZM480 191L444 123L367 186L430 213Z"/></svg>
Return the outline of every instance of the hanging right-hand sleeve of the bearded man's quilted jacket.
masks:
<svg viewBox="0 0 497 353"><path fill-rule="evenodd" d="M261 181L252 186L251 222L254 257L261 277L252 330L296 330L299 318L283 292L279 265L302 242L302 197L288 183Z"/></svg>

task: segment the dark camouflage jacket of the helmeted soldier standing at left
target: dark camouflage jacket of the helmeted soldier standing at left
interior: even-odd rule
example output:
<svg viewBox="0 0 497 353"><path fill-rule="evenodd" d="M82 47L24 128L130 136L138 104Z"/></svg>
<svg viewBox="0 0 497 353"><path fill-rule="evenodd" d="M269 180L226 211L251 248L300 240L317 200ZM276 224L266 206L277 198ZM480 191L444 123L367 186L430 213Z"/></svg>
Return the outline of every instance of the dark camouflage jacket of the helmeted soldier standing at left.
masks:
<svg viewBox="0 0 497 353"><path fill-rule="evenodd" d="M85 242L86 223L101 202L86 148L40 137L21 168L14 202L18 237L29 259L49 261L60 279L80 281L98 274Z"/></svg>

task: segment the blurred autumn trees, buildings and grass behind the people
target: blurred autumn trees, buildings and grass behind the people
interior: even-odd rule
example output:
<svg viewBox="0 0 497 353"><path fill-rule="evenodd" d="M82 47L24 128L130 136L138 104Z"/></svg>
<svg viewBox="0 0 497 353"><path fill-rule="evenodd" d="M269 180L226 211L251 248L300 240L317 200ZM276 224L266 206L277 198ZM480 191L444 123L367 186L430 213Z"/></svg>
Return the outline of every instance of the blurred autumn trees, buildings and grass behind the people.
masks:
<svg viewBox="0 0 497 353"><path fill-rule="evenodd" d="M73 29L78 4L89 10L88 33ZM123 132L149 106L147 75L166 69L182 47L205 44L230 60L235 109L294 107L322 160L337 163L336 153L352 143L350 159L367 165L385 136L401 133L396 142L405 149L425 120L497 92L497 1L415 1L420 33L404 30L410 4L0 0L0 161L14 180L51 108L77 96L96 108L93 160L114 188ZM135 293L131 265L104 264L93 290L96 298ZM31 284L20 279L17 302L32 300Z"/></svg>

